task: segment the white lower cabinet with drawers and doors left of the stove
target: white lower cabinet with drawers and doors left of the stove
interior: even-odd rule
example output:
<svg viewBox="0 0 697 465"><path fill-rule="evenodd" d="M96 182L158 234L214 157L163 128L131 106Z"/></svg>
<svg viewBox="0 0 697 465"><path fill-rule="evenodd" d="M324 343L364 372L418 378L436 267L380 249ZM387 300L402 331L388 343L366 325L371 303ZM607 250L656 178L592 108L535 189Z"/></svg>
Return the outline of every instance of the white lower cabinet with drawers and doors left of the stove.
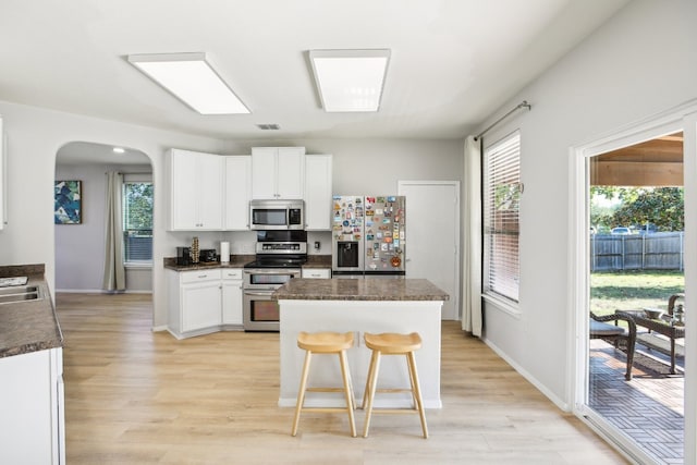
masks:
<svg viewBox="0 0 697 465"><path fill-rule="evenodd" d="M168 271L168 330L176 339L242 329L242 270Z"/></svg>

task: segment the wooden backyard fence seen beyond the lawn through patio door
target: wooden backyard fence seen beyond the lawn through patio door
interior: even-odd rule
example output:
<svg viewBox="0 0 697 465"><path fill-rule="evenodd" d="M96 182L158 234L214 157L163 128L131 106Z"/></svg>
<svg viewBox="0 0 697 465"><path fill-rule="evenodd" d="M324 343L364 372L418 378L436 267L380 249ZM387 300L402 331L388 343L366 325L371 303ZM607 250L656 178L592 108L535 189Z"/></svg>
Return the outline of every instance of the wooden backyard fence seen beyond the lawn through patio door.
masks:
<svg viewBox="0 0 697 465"><path fill-rule="evenodd" d="M683 270L684 233L590 236L590 270Z"/></svg>

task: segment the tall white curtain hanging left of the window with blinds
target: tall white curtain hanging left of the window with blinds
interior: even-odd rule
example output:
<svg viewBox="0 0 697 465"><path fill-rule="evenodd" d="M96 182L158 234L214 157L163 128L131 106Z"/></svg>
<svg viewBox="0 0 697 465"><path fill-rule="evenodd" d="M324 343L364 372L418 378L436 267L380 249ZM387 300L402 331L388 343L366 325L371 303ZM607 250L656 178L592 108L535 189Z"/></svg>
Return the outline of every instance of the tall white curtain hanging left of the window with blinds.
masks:
<svg viewBox="0 0 697 465"><path fill-rule="evenodd" d="M465 267L462 329L481 336L481 149L474 136L465 140Z"/></svg>

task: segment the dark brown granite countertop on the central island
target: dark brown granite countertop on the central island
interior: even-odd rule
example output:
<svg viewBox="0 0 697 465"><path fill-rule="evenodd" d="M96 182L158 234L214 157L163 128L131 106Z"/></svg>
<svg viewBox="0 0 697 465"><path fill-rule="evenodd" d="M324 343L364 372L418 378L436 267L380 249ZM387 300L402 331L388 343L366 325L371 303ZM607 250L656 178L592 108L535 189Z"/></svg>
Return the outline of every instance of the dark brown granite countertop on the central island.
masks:
<svg viewBox="0 0 697 465"><path fill-rule="evenodd" d="M425 279L293 279L276 290L277 301L448 301Z"/></svg>

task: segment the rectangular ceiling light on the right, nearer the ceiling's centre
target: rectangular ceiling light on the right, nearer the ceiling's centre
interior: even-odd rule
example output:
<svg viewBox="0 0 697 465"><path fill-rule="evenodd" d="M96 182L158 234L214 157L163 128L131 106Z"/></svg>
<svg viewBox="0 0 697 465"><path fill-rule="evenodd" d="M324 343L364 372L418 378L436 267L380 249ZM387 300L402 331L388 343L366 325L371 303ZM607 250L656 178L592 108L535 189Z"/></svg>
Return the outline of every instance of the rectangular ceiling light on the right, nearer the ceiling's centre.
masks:
<svg viewBox="0 0 697 465"><path fill-rule="evenodd" d="M390 50L310 50L325 111L378 111Z"/></svg>

